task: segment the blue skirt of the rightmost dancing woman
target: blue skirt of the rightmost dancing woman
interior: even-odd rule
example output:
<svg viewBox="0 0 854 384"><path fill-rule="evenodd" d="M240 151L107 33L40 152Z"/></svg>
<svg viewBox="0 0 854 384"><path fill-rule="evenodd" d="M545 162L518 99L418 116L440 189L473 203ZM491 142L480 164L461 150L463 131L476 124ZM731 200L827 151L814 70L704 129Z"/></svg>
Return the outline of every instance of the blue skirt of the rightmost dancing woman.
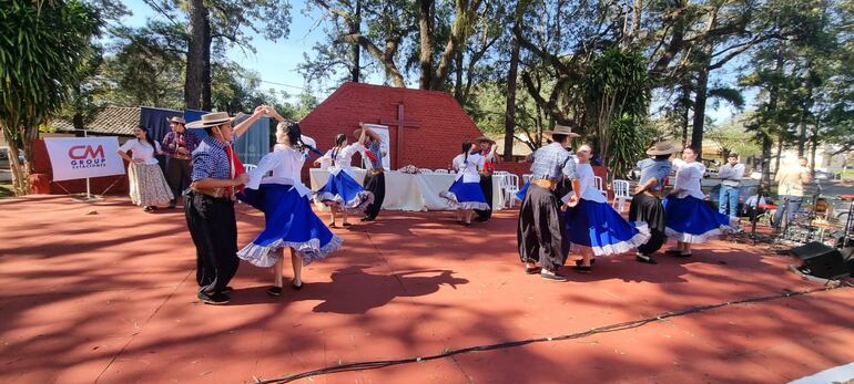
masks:
<svg viewBox="0 0 854 384"><path fill-rule="evenodd" d="M733 231L740 220L738 217L718 212L693 196L665 198L664 212L664 233L677 241L690 243L702 243L712 236Z"/></svg>

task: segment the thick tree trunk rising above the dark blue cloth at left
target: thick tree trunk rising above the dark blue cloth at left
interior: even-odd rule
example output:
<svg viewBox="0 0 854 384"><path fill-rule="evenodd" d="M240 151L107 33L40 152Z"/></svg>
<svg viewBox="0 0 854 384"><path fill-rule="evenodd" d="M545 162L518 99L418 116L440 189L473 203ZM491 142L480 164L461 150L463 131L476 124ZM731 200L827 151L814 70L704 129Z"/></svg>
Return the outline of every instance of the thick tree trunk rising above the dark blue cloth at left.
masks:
<svg viewBox="0 0 854 384"><path fill-rule="evenodd" d="M190 0L190 44L186 52L184 104L189 110L201 110L205 72L205 53L210 55L210 23L204 0ZM205 49L207 46L207 49ZM209 58L210 62L210 58ZM209 77L210 79L210 77ZM210 84L210 80L209 80Z"/></svg>

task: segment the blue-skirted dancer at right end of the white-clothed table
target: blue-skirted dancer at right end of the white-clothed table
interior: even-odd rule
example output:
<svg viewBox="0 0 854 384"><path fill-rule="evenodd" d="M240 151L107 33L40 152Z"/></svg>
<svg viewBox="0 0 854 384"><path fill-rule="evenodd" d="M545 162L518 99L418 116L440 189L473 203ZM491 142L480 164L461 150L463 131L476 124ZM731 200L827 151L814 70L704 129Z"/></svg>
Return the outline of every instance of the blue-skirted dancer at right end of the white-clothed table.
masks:
<svg viewBox="0 0 854 384"><path fill-rule="evenodd" d="M448 188L439 193L439 196L446 198L451 207L457 208L457 222L471 225L471 217L475 209L487 210L489 204L486 201L484 190L480 188L480 169L484 168L484 156L479 153L471 153L471 143L462 143L462 153L454 158L454 169L457 170L457 179Z"/></svg>

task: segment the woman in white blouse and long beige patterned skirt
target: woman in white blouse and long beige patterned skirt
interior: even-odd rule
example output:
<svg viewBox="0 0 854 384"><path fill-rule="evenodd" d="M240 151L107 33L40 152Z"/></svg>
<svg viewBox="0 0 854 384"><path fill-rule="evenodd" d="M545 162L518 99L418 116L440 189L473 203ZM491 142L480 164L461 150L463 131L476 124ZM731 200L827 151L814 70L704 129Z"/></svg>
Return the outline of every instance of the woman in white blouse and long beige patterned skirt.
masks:
<svg viewBox="0 0 854 384"><path fill-rule="evenodd" d="M163 177L157 159L154 158L155 154L163 154L160 143L153 141L149 128L142 125L133 128L133 136L135 138L125 142L118 153L130 163L128 179L131 185L131 201L150 212L157 206L169 205L174 195Z"/></svg>

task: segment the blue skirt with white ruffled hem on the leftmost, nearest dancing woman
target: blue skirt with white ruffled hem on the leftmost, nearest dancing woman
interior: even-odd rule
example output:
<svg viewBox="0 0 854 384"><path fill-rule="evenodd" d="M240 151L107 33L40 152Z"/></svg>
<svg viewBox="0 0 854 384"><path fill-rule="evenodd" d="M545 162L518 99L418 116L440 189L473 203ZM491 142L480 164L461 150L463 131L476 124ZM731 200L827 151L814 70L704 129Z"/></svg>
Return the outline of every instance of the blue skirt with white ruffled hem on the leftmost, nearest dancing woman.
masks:
<svg viewBox="0 0 854 384"><path fill-rule="evenodd" d="M307 266L344 245L312 210L308 196L302 196L293 186L262 184L237 198L264 212L264 230L237 251L238 258L257 267L273 267L281 248L293 248Z"/></svg>

